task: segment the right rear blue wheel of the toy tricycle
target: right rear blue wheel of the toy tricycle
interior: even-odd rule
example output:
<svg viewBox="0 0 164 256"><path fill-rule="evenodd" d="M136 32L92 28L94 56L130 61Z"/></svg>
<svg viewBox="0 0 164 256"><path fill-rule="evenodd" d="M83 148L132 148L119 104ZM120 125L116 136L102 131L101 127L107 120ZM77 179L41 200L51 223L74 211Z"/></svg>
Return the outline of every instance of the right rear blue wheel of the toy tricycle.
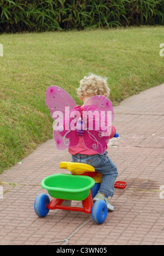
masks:
<svg viewBox="0 0 164 256"><path fill-rule="evenodd" d="M92 207L92 219L97 224L102 224L107 218L108 208L103 200L97 200Z"/></svg>

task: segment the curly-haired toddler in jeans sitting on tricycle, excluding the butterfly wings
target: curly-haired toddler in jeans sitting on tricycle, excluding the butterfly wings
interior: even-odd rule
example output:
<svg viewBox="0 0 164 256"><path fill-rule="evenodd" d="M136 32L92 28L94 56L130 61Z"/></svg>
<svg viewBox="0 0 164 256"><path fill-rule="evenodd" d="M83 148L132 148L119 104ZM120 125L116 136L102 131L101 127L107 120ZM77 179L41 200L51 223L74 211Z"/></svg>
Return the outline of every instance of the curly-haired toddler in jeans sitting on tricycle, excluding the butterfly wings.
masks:
<svg viewBox="0 0 164 256"><path fill-rule="evenodd" d="M93 74L84 77L77 89L78 96L83 103L95 95L109 97L109 91L107 80ZM83 112L83 106L81 106L81 111ZM115 135L115 132L116 129L112 126L110 138ZM114 211L114 207L110 204L107 197L109 196L111 199L114 194L114 183L118 176L118 170L112 160L109 159L108 152L106 151L103 155L95 154L95 150L85 147L82 136L80 136L78 146L68 148L68 152L72 155L72 162L89 164L95 168L95 171L102 174L101 187L98 194L93 198L93 202L104 200L107 203L108 211Z"/></svg>

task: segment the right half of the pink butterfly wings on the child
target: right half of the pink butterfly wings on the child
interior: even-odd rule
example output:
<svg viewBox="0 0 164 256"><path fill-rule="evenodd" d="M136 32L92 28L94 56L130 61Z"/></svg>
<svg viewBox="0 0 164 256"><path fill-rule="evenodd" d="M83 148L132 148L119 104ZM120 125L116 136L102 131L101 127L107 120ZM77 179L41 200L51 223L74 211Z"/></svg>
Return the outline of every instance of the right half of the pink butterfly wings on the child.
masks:
<svg viewBox="0 0 164 256"><path fill-rule="evenodd" d="M83 141L87 148L94 149L98 154L104 154L113 119L113 106L107 97L97 95L85 102L83 121L86 132Z"/></svg>

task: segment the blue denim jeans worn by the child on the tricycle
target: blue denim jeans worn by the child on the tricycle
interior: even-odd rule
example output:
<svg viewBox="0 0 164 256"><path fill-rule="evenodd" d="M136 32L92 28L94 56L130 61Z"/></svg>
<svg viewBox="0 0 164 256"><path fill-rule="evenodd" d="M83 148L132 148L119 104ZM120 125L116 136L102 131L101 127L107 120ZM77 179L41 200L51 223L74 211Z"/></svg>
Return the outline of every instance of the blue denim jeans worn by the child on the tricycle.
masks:
<svg viewBox="0 0 164 256"><path fill-rule="evenodd" d="M82 162L91 165L96 172L102 174L102 181L99 192L108 196L114 194L114 183L118 176L116 165L109 159L107 151L103 155L72 155L72 162Z"/></svg>

